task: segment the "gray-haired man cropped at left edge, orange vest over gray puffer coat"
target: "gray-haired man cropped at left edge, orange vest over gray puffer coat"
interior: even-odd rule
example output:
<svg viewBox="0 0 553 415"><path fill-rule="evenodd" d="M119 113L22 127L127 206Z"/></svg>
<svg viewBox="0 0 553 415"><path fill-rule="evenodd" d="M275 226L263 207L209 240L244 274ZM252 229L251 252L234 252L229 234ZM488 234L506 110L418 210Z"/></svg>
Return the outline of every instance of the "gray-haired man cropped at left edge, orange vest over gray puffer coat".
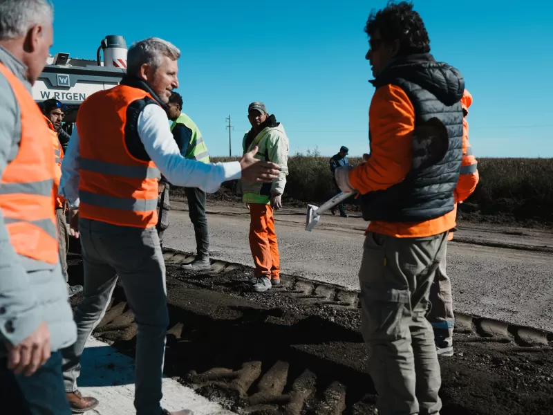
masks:
<svg viewBox="0 0 553 415"><path fill-rule="evenodd" d="M62 355L75 323L59 266L51 136L32 99L53 42L44 0L0 0L0 402L71 414Z"/></svg>

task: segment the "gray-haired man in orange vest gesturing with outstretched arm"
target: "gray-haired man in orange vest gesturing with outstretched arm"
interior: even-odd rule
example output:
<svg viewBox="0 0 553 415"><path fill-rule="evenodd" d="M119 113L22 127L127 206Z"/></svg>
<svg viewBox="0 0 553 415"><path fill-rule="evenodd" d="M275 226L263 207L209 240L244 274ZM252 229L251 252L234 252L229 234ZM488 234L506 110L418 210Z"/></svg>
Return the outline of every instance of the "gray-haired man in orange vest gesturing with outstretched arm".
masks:
<svg viewBox="0 0 553 415"><path fill-rule="evenodd" d="M74 411L90 409L77 393L79 361L120 277L138 327L137 414L191 414L160 406L169 324L165 264L156 232L160 173L175 185L211 193L223 181L271 182L279 175L278 165L254 158L257 149L233 163L200 163L181 156L165 112L171 91L178 87L178 57L178 48L162 39L133 44L120 85L82 103L62 163L59 192L70 203L71 233L80 234L84 264L84 299L75 312L77 342L63 353Z"/></svg>

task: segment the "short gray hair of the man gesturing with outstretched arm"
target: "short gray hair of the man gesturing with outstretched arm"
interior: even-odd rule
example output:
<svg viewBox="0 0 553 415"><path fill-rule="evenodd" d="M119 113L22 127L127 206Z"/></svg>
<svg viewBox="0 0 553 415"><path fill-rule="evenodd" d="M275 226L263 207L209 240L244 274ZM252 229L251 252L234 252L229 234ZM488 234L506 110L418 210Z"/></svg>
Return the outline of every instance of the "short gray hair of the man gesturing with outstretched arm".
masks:
<svg viewBox="0 0 553 415"><path fill-rule="evenodd" d="M148 64L156 70L161 65L162 56L176 60L180 57L180 50L159 37L149 37L135 42L126 55L126 72L136 75L143 64Z"/></svg>

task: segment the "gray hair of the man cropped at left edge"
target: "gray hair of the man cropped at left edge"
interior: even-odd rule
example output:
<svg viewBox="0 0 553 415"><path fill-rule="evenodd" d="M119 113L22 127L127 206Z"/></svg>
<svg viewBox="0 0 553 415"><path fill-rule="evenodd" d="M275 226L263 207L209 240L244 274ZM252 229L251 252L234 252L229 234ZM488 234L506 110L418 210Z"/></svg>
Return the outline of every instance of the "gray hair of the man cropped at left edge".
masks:
<svg viewBox="0 0 553 415"><path fill-rule="evenodd" d="M48 0L0 0L0 40L17 39L35 24L51 24L53 19Z"/></svg>

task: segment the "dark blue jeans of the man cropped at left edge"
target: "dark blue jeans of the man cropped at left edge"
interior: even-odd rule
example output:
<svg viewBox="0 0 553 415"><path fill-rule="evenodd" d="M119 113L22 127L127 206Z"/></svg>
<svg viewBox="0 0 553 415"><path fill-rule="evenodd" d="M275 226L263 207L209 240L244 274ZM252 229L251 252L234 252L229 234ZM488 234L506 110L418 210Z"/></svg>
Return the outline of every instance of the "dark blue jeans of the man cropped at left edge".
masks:
<svg viewBox="0 0 553 415"><path fill-rule="evenodd" d="M71 415L62 378L62 353L52 356L32 376L16 375L0 358L0 402L9 414Z"/></svg>

